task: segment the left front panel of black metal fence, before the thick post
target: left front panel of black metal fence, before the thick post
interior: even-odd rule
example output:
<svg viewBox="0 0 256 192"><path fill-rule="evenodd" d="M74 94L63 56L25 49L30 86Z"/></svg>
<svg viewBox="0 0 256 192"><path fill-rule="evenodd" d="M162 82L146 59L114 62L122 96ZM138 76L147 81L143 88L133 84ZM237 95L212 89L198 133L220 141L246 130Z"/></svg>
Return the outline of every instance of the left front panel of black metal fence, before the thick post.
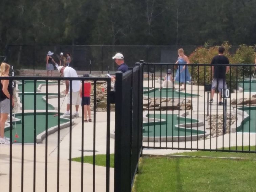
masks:
<svg viewBox="0 0 256 192"><path fill-rule="evenodd" d="M7 120L9 128L5 128L5 136L9 136L11 142L0 144L1 191L39 191L39 189L41 191L113 191L113 186L110 185L113 183L113 178L110 175L109 164L110 78L0 77L0 79L16 82L15 87L18 88L14 88L14 95L11 97L11 101L15 99L18 105L11 110L10 118ZM91 124L83 123L83 108L79 119L72 119L74 112L72 107L69 116L60 117L62 115L60 108L66 108L64 101L66 96L61 90L66 88L64 80L93 82ZM103 116L101 114L99 118L96 114L98 81L106 81L107 86L106 113ZM30 84L26 85L26 83ZM37 90L39 83L45 85L44 91L41 90L40 93ZM56 88L52 89L50 85L55 85ZM64 103L61 102L63 97ZM71 91L71 106L72 97L74 96ZM12 109L12 102L10 108ZM106 123L99 125L98 119L105 119ZM75 131L75 137L72 136L74 123L79 126L76 129L78 132ZM68 132L63 132L64 127L68 128ZM97 138L99 132L103 132L100 139ZM69 138L64 142L63 137L66 134L69 134ZM96 169L96 154L99 150L97 143L102 143L102 139L106 142L105 150L101 151L106 154L106 167ZM81 163L72 161L74 154L81 157ZM85 154L93 156L91 166L84 164Z"/></svg>

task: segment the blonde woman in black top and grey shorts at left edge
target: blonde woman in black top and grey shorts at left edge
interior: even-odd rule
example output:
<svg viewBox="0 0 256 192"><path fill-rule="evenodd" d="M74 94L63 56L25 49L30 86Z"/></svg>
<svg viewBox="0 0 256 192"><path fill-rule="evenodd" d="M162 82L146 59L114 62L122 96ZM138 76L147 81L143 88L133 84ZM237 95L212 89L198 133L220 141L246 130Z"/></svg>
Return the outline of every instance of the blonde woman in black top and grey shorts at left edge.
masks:
<svg viewBox="0 0 256 192"><path fill-rule="evenodd" d="M0 76L9 77L10 65L2 63L0 66ZM12 94L12 83L8 79L0 82L0 144L9 144L10 139L4 137L5 122L10 114L10 97ZM14 100L12 100L14 106Z"/></svg>

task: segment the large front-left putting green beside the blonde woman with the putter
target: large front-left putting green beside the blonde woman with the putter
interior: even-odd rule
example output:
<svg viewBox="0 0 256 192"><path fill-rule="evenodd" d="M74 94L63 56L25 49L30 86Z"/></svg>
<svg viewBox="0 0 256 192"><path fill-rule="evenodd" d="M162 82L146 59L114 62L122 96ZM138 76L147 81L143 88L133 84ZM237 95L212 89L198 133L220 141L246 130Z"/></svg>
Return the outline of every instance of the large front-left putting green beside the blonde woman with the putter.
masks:
<svg viewBox="0 0 256 192"><path fill-rule="evenodd" d="M48 112L48 129L58 125L58 116L54 116L56 112ZM60 114L62 115L62 114ZM14 116L14 115L13 115ZM13 121L13 141L17 140L18 143L22 142L22 113L15 114L15 118L19 119L16 121L16 129L19 138L15 137L15 122ZM36 135L45 131L46 113L36 113ZM69 122L69 119L60 118L60 124ZM4 135L10 138L10 127L6 128ZM24 142L34 143L34 113L24 113Z"/></svg>

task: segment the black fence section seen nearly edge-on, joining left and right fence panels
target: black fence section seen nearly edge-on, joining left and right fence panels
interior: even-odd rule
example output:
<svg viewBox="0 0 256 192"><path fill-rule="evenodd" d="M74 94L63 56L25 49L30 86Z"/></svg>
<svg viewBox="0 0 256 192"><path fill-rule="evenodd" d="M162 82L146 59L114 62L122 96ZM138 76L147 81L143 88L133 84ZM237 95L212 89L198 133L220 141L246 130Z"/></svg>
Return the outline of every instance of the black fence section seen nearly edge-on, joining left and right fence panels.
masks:
<svg viewBox="0 0 256 192"><path fill-rule="evenodd" d="M116 72L115 191L131 191L142 152L143 65Z"/></svg>

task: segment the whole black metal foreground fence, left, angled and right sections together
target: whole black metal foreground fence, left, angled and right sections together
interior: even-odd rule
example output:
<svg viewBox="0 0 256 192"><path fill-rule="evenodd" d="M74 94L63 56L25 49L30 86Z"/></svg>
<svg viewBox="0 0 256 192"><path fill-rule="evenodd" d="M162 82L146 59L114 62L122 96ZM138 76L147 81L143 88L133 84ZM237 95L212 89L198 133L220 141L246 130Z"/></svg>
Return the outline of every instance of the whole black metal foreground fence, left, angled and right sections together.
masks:
<svg viewBox="0 0 256 192"><path fill-rule="evenodd" d="M19 86L15 96L20 98L18 101L21 107L19 112L11 112L9 130L6 129L10 140L17 141L0 145L1 190L37 191L41 188L44 191L131 191L143 149L256 153L256 79L253 66L225 65L230 69L226 75L227 88L220 90L223 98L220 104L216 93L213 102L209 101L213 80L210 75L213 72L211 66L214 65L185 65L185 77L189 74L190 81L182 80L181 76L172 81L177 73L175 64L141 61L126 73L116 72L114 94L110 92L110 78L1 77L15 81L16 87ZM170 79L168 72L172 76ZM164 82L165 76L170 82ZM61 100L65 96L61 92L62 80L93 81L93 125L84 124L82 116L76 120L81 130L72 129L72 109L68 118L60 118ZM31 85L26 87L26 81L31 81ZM37 97L38 81L44 81L46 85L43 91L45 103L42 106ZM98 117L96 113L97 81L106 81L107 86L107 110L104 117ZM184 84L180 86L180 82ZM56 96L52 95L50 84L57 86L53 90ZM83 89L82 86L82 92ZM26 100L25 92L29 92L30 99ZM56 97L55 101L52 101L52 97ZM114 150L110 147L110 101L115 103ZM52 103L56 110L48 105ZM29 111L26 109L28 104L31 107ZM39 109L45 113L42 114ZM29 120L26 120L26 114L31 116ZM101 121L105 118L106 123L98 123L99 118ZM50 137L52 129L48 128L52 127L52 122L56 122L53 128L56 135ZM68 139L62 138L62 134L65 134L61 130L63 124L69 128ZM32 127L30 131L29 126ZM40 136L45 142L42 145L37 144L40 126L43 126L44 132ZM20 131L19 137L16 137L16 131ZM74 138L77 131L79 138ZM102 132L103 136L98 138ZM32 142L26 144L29 134ZM103 151L98 148L98 142L106 143ZM82 163L72 161L77 151ZM114 170L110 168L111 151L115 153ZM96 167L97 152L106 154L105 168ZM89 153L92 153L91 166L83 163L87 158L84 155Z"/></svg>

